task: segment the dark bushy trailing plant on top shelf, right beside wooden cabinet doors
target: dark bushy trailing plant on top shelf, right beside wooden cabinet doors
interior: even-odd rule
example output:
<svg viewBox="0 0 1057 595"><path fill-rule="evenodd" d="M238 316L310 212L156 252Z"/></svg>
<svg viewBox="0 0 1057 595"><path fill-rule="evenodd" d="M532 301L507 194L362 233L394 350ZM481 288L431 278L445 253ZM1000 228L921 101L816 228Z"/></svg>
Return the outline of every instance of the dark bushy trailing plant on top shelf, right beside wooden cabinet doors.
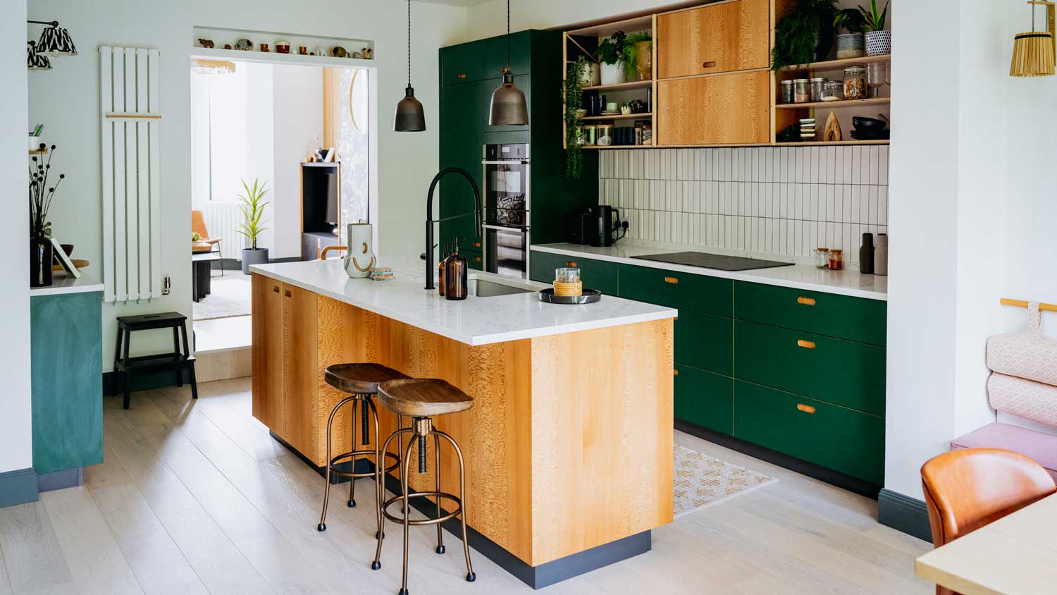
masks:
<svg viewBox="0 0 1057 595"><path fill-rule="evenodd" d="M771 69L822 61L833 48L837 0L796 0L775 29Z"/></svg>

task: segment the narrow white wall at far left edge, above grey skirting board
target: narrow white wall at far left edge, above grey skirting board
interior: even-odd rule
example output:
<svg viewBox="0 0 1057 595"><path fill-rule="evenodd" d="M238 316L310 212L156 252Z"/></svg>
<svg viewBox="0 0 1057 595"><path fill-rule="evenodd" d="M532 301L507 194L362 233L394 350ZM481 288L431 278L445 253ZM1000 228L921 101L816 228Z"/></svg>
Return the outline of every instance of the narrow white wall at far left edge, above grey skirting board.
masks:
<svg viewBox="0 0 1057 595"><path fill-rule="evenodd" d="M30 207L25 200L26 117L25 0L0 0L0 472L33 466L32 416L30 412Z"/></svg>

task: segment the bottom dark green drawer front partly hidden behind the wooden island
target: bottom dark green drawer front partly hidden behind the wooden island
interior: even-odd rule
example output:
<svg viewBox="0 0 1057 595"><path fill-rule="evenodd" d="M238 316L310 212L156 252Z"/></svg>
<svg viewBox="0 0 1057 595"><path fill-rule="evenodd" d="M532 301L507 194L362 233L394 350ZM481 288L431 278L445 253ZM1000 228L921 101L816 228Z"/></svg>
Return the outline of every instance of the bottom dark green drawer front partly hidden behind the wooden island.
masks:
<svg viewBox="0 0 1057 595"><path fill-rule="evenodd" d="M675 417L718 432L734 431L734 380L675 365Z"/></svg>

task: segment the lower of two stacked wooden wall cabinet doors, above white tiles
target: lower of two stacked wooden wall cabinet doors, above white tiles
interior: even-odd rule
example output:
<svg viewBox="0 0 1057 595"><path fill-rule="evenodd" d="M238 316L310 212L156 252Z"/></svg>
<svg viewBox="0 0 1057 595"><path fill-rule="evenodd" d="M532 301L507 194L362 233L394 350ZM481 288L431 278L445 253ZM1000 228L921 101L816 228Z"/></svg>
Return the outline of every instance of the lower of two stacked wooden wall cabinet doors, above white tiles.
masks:
<svg viewBox="0 0 1057 595"><path fill-rule="evenodd" d="M662 145L767 143L768 71L694 76L657 82Z"/></svg>

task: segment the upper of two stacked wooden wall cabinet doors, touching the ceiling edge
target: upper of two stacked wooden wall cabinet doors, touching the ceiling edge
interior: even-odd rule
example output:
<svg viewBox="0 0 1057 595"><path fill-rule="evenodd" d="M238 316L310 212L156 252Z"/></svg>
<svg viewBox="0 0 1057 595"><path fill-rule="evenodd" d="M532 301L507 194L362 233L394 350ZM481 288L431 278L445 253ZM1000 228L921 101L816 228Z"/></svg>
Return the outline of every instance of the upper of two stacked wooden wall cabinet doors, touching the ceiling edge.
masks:
<svg viewBox="0 0 1057 595"><path fill-rule="evenodd" d="M767 68L768 0L734 0L657 16L657 77Z"/></svg>

